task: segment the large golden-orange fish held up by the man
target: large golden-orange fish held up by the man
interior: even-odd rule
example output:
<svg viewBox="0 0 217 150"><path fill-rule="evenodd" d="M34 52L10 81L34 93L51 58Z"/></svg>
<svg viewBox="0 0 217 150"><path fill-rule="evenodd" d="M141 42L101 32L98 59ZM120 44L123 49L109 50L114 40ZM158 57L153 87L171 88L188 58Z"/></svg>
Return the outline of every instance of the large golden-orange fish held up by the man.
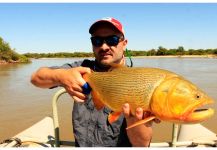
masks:
<svg viewBox="0 0 217 150"><path fill-rule="evenodd" d="M141 107L160 120L175 123L198 123L214 114L214 110L201 109L214 101L183 77L158 68L120 67L110 72L85 74L84 79L92 88L91 94L97 109L104 106L113 110L109 122L129 103L132 115Z"/></svg>

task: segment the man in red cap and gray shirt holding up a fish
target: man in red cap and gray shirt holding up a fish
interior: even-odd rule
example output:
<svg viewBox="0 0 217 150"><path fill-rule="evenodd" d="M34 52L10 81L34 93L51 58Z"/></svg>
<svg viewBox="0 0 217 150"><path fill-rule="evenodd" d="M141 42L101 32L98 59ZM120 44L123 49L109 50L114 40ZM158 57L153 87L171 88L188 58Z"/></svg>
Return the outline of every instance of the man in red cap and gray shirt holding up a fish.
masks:
<svg viewBox="0 0 217 150"><path fill-rule="evenodd" d="M108 71L111 65L126 65L124 50L127 39L122 24L114 18L104 18L89 29L94 61L84 60L61 67L42 67L33 73L31 82L41 88L63 86L75 100L73 131L76 146L149 146L152 137L151 123L126 131L126 127L148 116L137 108L136 116L130 114L129 104L123 106L123 115L110 124L107 117L111 110L96 110L91 96L85 95L82 75L93 71Z"/></svg>

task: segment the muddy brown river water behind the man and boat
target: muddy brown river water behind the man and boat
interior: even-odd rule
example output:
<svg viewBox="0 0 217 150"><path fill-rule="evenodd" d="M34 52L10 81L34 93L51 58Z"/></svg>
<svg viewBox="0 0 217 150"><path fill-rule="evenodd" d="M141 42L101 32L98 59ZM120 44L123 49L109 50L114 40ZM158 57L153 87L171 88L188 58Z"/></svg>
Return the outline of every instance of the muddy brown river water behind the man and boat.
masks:
<svg viewBox="0 0 217 150"><path fill-rule="evenodd" d="M30 83L31 74L42 66L58 66L81 60L33 59L30 64L0 65L0 141L16 135L45 116L52 115L51 99L59 90L40 89ZM217 59L213 58L133 58L134 66L158 67L176 72L195 83L217 100ZM59 103L60 138L72 140L73 100L64 95ZM212 107L217 110L217 104ZM217 114L202 123L217 133ZM172 124L154 124L153 141L171 140Z"/></svg>

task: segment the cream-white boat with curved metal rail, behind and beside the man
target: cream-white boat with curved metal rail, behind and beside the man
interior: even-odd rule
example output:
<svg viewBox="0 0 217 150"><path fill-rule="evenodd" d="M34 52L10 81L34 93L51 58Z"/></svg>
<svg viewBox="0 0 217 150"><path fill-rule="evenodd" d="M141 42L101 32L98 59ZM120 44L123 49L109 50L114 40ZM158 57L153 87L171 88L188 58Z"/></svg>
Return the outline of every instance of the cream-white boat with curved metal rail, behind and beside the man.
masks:
<svg viewBox="0 0 217 150"><path fill-rule="evenodd" d="M57 91L52 98L53 116L46 116L12 138L0 142L2 147L74 147L74 141L60 139L57 101L65 94ZM217 134L201 124L173 124L172 140L151 143L150 147L217 147Z"/></svg>

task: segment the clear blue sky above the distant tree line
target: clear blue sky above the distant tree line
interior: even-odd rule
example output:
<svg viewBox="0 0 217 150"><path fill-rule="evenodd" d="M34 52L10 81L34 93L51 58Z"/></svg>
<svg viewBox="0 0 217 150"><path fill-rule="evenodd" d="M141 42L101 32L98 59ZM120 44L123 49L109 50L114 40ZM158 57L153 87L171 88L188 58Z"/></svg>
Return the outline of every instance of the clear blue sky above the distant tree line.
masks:
<svg viewBox="0 0 217 150"><path fill-rule="evenodd" d="M217 48L217 3L0 3L0 37L21 54L92 52L103 17L122 23L130 50Z"/></svg>

